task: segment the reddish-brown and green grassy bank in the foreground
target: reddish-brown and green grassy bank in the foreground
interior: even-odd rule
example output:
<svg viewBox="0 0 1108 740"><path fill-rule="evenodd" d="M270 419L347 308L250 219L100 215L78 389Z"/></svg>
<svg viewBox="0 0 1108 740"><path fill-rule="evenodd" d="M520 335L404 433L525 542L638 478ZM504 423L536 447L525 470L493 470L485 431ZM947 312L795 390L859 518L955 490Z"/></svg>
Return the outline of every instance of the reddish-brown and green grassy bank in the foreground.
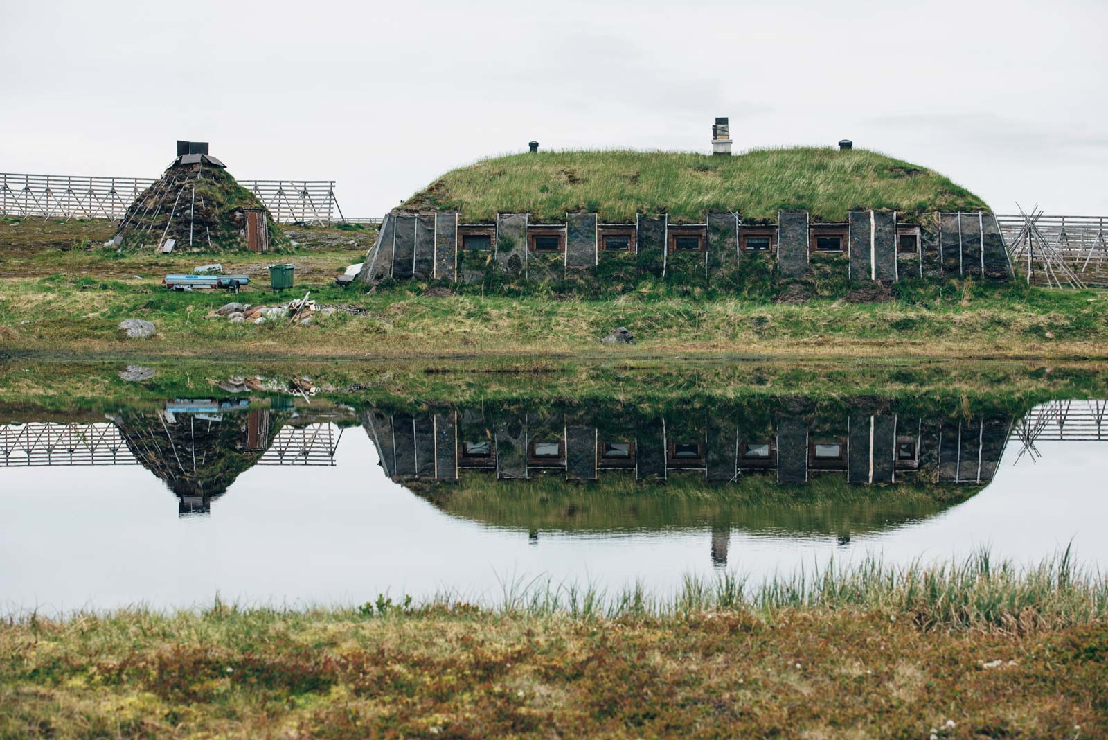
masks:
<svg viewBox="0 0 1108 740"><path fill-rule="evenodd" d="M0 737L1096 738L1105 596L1065 557L982 555L660 600L24 616Z"/></svg>

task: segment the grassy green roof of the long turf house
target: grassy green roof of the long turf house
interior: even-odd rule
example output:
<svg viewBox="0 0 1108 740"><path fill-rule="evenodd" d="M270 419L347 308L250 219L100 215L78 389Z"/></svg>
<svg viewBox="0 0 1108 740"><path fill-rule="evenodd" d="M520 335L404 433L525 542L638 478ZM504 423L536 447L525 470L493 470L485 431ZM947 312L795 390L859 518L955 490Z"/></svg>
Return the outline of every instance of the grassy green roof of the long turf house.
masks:
<svg viewBox="0 0 1108 740"><path fill-rule="evenodd" d="M496 213L531 213L533 222L566 212L629 223L668 213L701 223L709 210L738 210L747 222L804 208L817 222L843 222L852 209L894 209L902 219L935 210L987 209L936 172L865 150L756 150L737 156L687 152L541 152L482 160L451 169L416 193L403 209L459 210L470 223Z"/></svg>

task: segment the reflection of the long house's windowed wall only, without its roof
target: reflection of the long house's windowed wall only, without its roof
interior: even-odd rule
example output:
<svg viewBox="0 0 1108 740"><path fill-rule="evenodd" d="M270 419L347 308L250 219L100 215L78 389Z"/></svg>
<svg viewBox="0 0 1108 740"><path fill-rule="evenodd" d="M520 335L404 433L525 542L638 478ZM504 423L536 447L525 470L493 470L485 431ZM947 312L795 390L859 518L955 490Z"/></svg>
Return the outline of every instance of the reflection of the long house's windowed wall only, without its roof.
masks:
<svg viewBox="0 0 1108 740"><path fill-rule="evenodd" d="M895 483L926 470L938 483L992 480L1012 419L920 419L891 411L838 413L778 411L742 419L697 412L657 418L618 411L601 425L573 413L448 410L429 413L362 412L362 423L396 481L455 480L466 470L500 480L557 471L568 481L605 471L664 481L695 471L712 483L741 475L772 475L802 484L813 475L844 475L850 483ZM747 423L743 423L747 422Z"/></svg>

